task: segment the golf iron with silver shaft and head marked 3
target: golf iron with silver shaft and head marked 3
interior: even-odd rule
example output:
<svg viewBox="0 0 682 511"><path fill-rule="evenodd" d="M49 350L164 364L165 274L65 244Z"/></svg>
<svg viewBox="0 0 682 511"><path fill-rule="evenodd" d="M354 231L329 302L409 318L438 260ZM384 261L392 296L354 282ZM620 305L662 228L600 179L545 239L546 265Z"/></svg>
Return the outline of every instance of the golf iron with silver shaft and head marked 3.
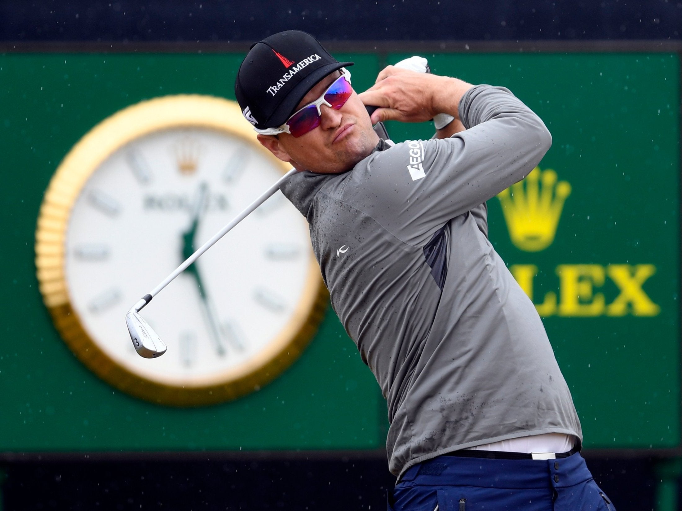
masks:
<svg viewBox="0 0 682 511"><path fill-rule="evenodd" d="M192 255L190 255L185 262L175 268L173 273L168 275L168 277L166 277L162 283L153 288L149 294L145 294L145 296L140 298L138 303L136 303L132 309L128 311L128 313L125 315L125 324L128 326L130 340L132 341L138 355L145 358L156 358L166 352L166 345L164 344L164 341L161 340L158 334L152 330L151 326L149 326L149 324L147 324L147 322L139 314L139 312L144 309L149 302L151 302L151 298L159 294L159 292L165 288L166 285L173 281L175 277L180 275L186 268L188 268L188 266L190 266L190 264L196 261L201 254L211 248L216 241L222 238L222 236L232 230L237 223L248 217L248 215L250 215L258 206L263 204L265 200L273 196L273 194L280 189L280 185L282 185L282 183L284 183L284 181L295 172L297 172L295 168L286 172L286 174L284 174L284 176L278 179L276 183L269 187L265 193L254 200L254 202L249 204L244 211L233 218L232 221L230 221L226 226L224 226L224 228L217 232L211 239L209 239L209 241L201 245L201 247L199 247Z"/></svg>

